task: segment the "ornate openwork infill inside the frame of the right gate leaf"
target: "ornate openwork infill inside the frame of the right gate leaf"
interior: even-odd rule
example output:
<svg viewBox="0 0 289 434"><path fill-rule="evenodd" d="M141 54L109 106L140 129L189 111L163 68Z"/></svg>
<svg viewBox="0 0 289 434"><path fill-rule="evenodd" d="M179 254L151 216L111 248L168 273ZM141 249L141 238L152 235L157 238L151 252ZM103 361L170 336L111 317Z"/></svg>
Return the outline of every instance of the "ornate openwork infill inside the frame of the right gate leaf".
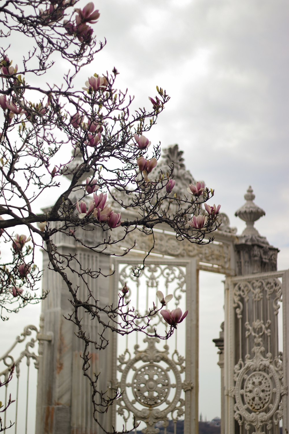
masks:
<svg viewBox="0 0 289 434"><path fill-rule="evenodd" d="M286 393L278 342L282 283L274 277L240 279L233 286L232 300L239 346L234 368L234 418L240 433L277 433Z"/></svg>

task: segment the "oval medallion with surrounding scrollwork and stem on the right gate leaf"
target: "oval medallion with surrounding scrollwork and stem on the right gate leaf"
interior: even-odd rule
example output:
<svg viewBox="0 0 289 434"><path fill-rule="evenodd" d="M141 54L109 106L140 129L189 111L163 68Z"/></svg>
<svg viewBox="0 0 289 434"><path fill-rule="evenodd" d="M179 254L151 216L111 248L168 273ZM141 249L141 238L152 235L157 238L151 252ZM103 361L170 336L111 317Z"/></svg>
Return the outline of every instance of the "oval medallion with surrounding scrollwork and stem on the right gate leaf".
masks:
<svg viewBox="0 0 289 434"><path fill-rule="evenodd" d="M239 360L235 366L234 418L246 430L253 426L254 434L262 434L264 425L271 430L282 418L283 364L272 354L263 355L263 337L270 334L270 321L263 324L257 320L253 325L246 324L247 334L254 337L252 358L246 355L245 362ZM274 431L275 432L275 431Z"/></svg>

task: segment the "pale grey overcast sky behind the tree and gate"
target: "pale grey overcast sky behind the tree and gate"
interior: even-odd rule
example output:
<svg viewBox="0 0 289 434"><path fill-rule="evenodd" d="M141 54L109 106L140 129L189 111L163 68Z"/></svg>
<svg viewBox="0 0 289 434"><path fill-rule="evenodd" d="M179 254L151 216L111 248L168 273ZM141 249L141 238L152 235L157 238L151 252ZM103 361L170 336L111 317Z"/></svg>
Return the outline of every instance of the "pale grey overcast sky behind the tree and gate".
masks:
<svg viewBox="0 0 289 434"><path fill-rule="evenodd" d="M101 13L95 32L107 38L107 46L79 77L79 86L94 72L116 66L118 87L135 95L135 107L150 107L148 96L156 95L156 85L165 88L171 100L147 134L149 140L161 141L162 148L179 144L187 169L215 189L214 202L238 233L244 222L234 213L251 185L255 203L266 212L255 226L280 249L279 270L288 268L288 1L95 4ZM211 339L218 337L223 318L222 286L221 276L202 279L200 411L211 419L221 415ZM39 310L32 321L29 309L18 315L18 324L38 324ZM9 329L15 332L15 318Z"/></svg>

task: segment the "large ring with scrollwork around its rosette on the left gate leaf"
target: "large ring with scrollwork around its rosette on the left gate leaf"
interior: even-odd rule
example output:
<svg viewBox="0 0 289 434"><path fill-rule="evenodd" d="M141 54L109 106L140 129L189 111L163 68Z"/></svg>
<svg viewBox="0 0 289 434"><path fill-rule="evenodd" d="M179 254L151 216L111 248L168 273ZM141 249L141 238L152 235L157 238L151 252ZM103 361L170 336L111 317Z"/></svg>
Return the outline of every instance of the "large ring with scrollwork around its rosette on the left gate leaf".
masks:
<svg viewBox="0 0 289 434"><path fill-rule="evenodd" d="M185 401L181 398L182 378L185 371L185 361L177 351L169 357L169 347L164 350L156 348L158 338L145 338L146 349L139 350L135 345L134 357L127 349L118 358L118 370L121 372L121 398L118 400L118 414L127 421L133 414L136 421L146 423L143 434L157 434L156 423L162 421L167 426L170 418L182 416L185 412ZM192 384L185 384L190 390Z"/></svg>

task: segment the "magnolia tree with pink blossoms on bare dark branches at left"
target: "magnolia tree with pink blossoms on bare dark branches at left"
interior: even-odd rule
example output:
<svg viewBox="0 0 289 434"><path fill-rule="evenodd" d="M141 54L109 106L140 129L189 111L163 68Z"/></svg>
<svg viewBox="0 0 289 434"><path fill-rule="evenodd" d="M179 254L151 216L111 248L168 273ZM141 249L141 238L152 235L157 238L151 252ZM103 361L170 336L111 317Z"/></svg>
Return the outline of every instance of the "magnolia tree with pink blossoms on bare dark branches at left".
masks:
<svg viewBox="0 0 289 434"><path fill-rule="evenodd" d="M94 4L77 6L74 0L6 0L0 5L0 241L11 251L10 256L1 257L0 305L1 318L6 319L7 313L46 296L33 292L41 278L35 254L39 247L44 249L49 267L67 287L73 309L70 320L84 341L84 375L89 376L91 340L81 328L78 306L84 306L86 314L104 329L121 334L149 331L138 325L138 314L125 298L126 286L117 306L103 306L94 298L88 281L101 270L84 270L81 264L75 269L77 258L59 253L52 242L55 233L85 245L76 229L101 228L105 236L97 245L86 247L107 255L112 254L111 245L121 246L133 230L151 234L159 224L168 225L180 241L204 243L210 240L205 235L219 225L219 206L205 204L202 209L214 191L201 182L188 185L182 197L174 194L173 161L166 173L158 171L160 147L151 146L149 130L169 101L165 90L157 87L148 109L130 113L132 98L117 89L115 67L112 72L91 68L82 86L76 85L81 69L106 43L97 43L94 36L100 17ZM15 48L19 38L25 38L26 53ZM53 77L59 78L59 65L65 67L65 63L66 72L56 82ZM62 181L64 174L69 185ZM39 204L47 207L48 193L54 202L41 212ZM127 209L136 210L129 214L135 217L123 218L121 212ZM77 286L68 277L71 271L84 281L87 298L79 298ZM162 293L157 296L160 304L153 304L147 325L168 301ZM101 319L99 312L103 312ZM160 336L167 339L187 312L162 309L160 313L170 325L167 334ZM157 335L157 330L151 335ZM105 339L92 343L99 350L108 344ZM94 402L97 379L90 382ZM101 403L94 402L96 420L97 411L106 411L113 400L102 396Z"/></svg>

